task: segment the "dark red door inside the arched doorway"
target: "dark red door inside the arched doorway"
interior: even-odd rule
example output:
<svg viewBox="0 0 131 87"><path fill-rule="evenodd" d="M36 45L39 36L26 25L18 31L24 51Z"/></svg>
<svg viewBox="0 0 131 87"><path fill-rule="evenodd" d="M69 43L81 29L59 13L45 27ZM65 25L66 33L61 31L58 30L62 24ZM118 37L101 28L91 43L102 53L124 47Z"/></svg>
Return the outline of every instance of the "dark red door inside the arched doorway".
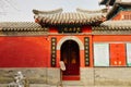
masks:
<svg viewBox="0 0 131 87"><path fill-rule="evenodd" d="M66 64L63 75L80 74L80 49L73 40L67 40L61 47L61 61Z"/></svg>

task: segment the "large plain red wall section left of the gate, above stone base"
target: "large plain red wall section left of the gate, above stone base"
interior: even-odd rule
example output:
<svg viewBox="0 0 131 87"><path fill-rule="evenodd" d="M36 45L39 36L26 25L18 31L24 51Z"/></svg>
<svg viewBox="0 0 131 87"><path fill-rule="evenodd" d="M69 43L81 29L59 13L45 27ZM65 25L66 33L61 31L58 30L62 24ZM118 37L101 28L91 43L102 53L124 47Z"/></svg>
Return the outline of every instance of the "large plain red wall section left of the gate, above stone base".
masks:
<svg viewBox="0 0 131 87"><path fill-rule="evenodd" d="M46 67L48 46L45 37L0 37L0 67Z"/></svg>

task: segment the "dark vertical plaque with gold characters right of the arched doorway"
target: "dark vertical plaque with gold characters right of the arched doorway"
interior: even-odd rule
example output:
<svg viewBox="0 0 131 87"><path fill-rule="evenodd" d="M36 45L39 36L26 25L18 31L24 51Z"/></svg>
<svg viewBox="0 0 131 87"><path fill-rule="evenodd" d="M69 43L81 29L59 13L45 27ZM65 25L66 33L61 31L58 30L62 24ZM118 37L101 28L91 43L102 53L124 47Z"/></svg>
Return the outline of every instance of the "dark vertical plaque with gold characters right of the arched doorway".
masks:
<svg viewBox="0 0 131 87"><path fill-rule="evenodd" d="M85 66L90 66L90 37L84 38Z"/></svg>

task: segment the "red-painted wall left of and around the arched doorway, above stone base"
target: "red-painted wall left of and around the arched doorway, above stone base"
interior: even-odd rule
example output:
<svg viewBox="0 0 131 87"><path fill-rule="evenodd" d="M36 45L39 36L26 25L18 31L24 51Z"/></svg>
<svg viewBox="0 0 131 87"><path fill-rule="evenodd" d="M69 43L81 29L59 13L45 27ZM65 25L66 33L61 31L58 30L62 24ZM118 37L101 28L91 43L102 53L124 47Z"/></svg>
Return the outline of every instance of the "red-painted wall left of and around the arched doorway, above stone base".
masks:
<svg viewBox="0 0 131 87"><path fill-rule="evenodd" d="M52 27L51 27L52 28ZM88 30L86 30L88 28ZM83 27L91 32L91 27ZM15 36L0 37L0 67L50 67L51 37L57 38L57 44L69 35L53 35L56 28L48 36ZM93 66L92 35L73 35L84 45L84 37L90 37L90 66ZM60 50L57 50L57 67L59 67ZM85 66L84 49L80 50L81 67Z"/></svg>

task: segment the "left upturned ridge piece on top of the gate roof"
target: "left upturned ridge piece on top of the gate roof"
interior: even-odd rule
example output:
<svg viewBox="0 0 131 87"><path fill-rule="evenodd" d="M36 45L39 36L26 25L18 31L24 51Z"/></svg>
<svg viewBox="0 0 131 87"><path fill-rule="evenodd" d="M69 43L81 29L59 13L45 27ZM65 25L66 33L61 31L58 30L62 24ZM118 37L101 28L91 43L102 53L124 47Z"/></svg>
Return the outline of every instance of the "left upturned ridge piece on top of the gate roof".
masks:
<svg viewBox="0 0 131 87"><path fill-rule="evenodd" d="M39 10L33 10L34 14L56 14L56 13L62 13L62 9L51 10L51 11L39 11Z"/></svg>

